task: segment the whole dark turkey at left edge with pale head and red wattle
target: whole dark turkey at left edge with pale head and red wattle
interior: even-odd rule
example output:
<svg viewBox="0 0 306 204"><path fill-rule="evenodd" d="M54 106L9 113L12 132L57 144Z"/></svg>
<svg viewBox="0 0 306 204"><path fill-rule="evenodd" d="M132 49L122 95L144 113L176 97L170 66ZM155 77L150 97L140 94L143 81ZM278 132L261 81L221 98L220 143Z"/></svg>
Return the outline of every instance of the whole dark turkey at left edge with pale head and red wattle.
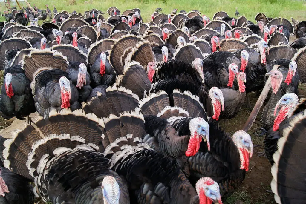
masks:
<svg viewBox="0 0 306 204"><path fill-rule="evenodd" d="M12 66L4 72L1 88L0 115L5 119L16 117L20 120L35 112L30 80L20 65Z"/></svg>

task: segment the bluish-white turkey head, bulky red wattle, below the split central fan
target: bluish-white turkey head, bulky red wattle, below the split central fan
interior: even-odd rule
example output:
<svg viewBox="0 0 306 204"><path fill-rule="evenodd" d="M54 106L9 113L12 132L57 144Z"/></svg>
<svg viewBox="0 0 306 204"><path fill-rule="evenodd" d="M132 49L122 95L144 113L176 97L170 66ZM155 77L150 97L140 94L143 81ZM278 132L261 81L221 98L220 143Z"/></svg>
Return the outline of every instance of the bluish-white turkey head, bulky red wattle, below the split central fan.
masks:
<svg viewBox="0 0 306 204"><path fill-rule="evenodd" d="M192 118L189 122L190 138L188 149L185 152L187 157L194 156L200 149L202 138L207 142L207 148L210 150L209 143L209 124L200 117Z"/></svg>

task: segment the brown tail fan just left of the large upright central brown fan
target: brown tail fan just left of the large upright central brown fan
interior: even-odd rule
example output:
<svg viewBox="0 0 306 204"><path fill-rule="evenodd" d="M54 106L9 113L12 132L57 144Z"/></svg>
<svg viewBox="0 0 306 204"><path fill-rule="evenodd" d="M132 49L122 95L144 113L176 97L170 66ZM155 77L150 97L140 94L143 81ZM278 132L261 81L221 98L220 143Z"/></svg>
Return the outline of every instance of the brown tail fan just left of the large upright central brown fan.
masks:
<svg viewBox="0 0 306 204"><path fill-rule="evenodd" d="M107 50L111 50L112 46L117 42L114 39L103 39L92 44L88 50L88 62L93 65L95 63L96 57L101 54L101 52L106 52Z"/></svg>

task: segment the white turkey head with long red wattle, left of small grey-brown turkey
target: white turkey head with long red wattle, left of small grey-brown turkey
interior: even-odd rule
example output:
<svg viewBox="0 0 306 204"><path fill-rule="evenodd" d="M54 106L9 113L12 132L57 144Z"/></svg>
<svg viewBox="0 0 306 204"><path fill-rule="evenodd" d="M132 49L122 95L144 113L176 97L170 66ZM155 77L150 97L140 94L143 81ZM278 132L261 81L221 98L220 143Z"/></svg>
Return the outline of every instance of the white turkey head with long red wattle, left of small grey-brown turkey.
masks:
<svg viewBox="0 0 306 204"><path fill-rule="evenodd" d="M214 115L212 116L212 118L218 121L221 113L221 106L222 111L224 110L224 98L222 91L217 87L211 87L211 89L209 90L209 97L211 98L214 111Z"/></svg>

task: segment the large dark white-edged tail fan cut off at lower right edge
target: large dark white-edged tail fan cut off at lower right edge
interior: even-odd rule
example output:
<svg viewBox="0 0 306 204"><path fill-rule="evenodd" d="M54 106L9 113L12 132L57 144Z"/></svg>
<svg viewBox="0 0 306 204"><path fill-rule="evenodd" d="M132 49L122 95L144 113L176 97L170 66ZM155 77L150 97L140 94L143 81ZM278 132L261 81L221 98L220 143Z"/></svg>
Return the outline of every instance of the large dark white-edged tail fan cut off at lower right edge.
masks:
<svg viewBox="0 0 306 204"><path fill-rule="evenodd" d="M274 165L271 189L277 203L303 203L306 188L301 178L305 177L304 152L306 147L306 112L304 111L285 129L278 140L278 150L273 154Z"/></svg>

